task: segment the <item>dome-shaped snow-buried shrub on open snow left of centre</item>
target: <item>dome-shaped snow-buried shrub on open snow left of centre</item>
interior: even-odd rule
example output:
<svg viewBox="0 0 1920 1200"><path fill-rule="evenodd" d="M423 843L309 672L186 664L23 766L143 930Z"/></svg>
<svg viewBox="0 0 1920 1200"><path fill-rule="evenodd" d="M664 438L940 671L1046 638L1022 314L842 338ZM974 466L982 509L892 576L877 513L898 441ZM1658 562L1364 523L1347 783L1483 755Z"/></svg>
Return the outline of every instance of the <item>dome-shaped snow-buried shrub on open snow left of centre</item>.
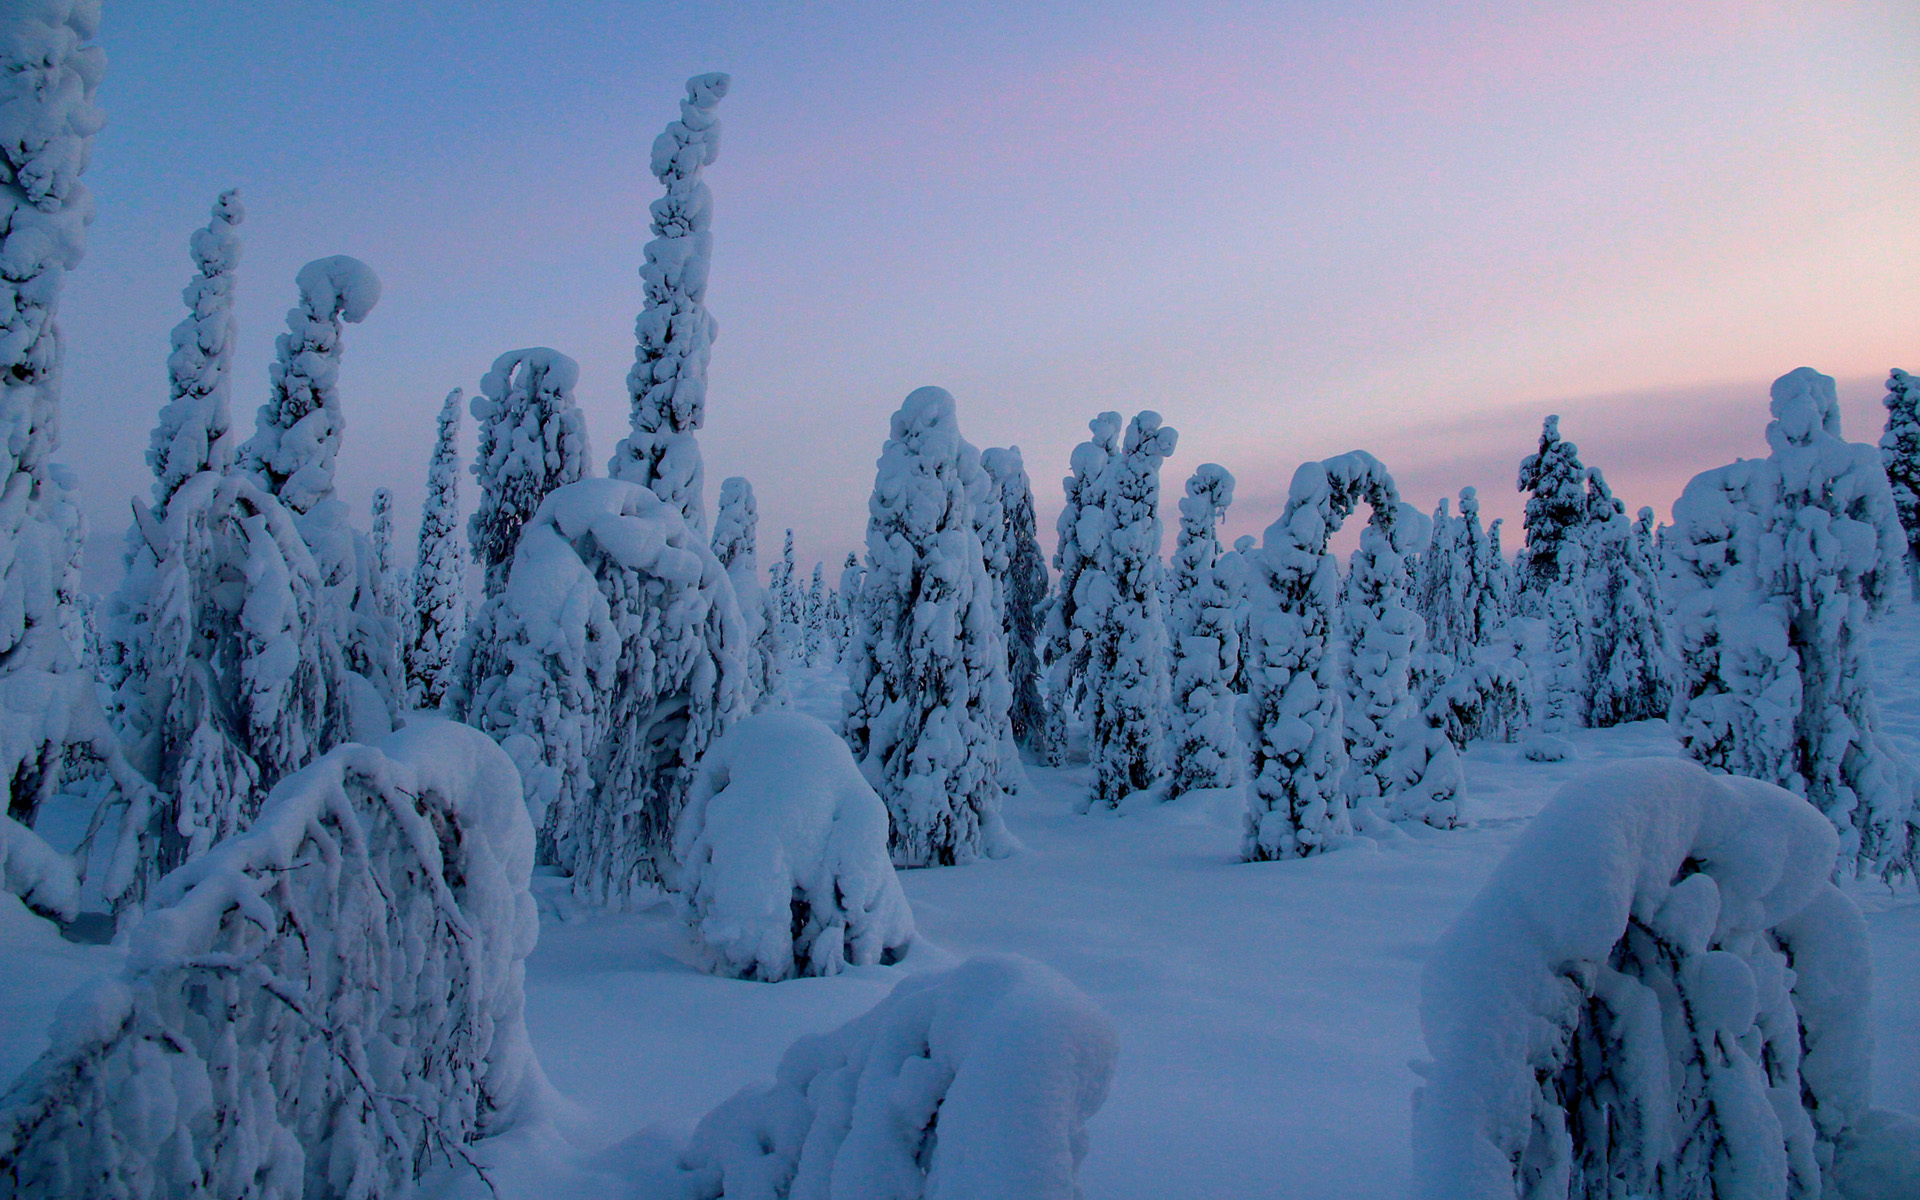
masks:
<svg viewBox="0 0 1920 1200"><path fill-rule="evenodd" d="M680 912L720 975L835 975L895 962L914 937L887 806L812 716L749 716L707 751L674 858Z"/></svg>

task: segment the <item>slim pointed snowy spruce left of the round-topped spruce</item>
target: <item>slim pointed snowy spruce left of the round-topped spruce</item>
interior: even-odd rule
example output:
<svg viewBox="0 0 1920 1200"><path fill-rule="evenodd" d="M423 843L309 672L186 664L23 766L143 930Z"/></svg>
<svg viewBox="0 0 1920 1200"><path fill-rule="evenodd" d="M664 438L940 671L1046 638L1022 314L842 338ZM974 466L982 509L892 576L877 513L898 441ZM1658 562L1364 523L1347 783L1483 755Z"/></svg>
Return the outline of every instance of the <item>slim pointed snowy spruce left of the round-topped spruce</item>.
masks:
<svg viewBox="0 0 1920 1200"><path fill-rule="evenodd" d="M413 563L407 630L407 705L438 708L453 685L453 662L467 632L467 570L461 561L461 390L440 405L434 455L426 463L420 549Z"/></svg>

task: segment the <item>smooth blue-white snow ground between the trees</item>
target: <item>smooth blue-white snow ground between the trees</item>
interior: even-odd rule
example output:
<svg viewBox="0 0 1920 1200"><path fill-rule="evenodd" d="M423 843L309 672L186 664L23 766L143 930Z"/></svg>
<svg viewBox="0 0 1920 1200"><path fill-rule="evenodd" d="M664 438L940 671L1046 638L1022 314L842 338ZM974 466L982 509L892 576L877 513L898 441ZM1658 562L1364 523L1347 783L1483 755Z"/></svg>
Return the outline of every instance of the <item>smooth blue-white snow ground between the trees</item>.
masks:
<svg viewBox="0 0 1920 1200"><path fill-rule="evenodd" d="M1885 724L1920 758L1920 611L1884 622L1874 664ZM803 710L835 718L835 672L795 670L793 685ZM1083 816L1085 764L1029 764L1006 810L1025 849L904 872L912 952L828 979L707 975L666 900L607 912L536 877L526 1000L553 1121L486 1148L493 1185L507 1198L637 1196L634 1164L770 1077L795 1037L868 1010L906 973L1002 950L1062 972L1119 1031L1081 1171L1089 1200L1404 1196L1427 948L1559 783L1601 760L1678 753L1657 722L1571 741L1576 756L1555 764L1473 747L1461 831L1415 828L1267 864L1238 862L1233 793ZM1874 939L1876 1102L1920 1112L1920 895L1851 891ZM12 1077L46 1044L58 998L117 950L63 943L0 900L0 1075ZM486 1194L470 1177L444 1185Z"/></svg>

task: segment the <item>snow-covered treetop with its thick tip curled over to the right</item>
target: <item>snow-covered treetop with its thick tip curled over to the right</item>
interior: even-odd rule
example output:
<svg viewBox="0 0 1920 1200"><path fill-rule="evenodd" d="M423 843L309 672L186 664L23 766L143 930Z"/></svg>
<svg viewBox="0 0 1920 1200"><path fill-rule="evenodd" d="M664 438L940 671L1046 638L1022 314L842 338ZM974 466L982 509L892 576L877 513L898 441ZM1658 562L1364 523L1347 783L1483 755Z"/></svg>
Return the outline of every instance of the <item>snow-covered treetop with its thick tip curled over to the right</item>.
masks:
<svg viewBox="0 0 1920 1200"><path fill-rule="evenodd" d="M246 468L294 513L334 493L334 459L346 419L340 413L342 323L359 324L380 301L380 276L336 253L313 259L294 278L300 303L286 313L267 367L271 394L240 447Z"/></svg>

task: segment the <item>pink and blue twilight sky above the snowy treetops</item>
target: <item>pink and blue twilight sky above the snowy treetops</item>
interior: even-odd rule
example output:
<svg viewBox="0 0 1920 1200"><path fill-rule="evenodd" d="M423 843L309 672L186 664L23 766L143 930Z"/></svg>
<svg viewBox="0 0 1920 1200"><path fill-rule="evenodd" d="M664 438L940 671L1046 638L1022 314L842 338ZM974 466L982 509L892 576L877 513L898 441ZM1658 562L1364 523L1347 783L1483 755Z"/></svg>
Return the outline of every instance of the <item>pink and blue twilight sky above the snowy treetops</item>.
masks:
<svg viewBox="0 0 1920 1200"><path fill-rule="evenodd" d="M829 582L922 384L1023 449L1050 551L1104 409L1179 430L1169 524L1194 467L1236 476L1231 538L1346 449L1423 509L1475 486L1517 520L1548 413L1665 516L1764 453L1774 376L1834 374L1874 440L1887 369L1920 371L1910 0L108 0L100 44L98 215L61 300L96 589L148 486L186 238L230 186L240 428L300 265L384 280L346 336L340 493L365 524L394 490L401 559L440 401L503 351L580 361L603 470L647 152L701 71L733 75L707 505L749 476L762 564L793 526Z"/></svg>

